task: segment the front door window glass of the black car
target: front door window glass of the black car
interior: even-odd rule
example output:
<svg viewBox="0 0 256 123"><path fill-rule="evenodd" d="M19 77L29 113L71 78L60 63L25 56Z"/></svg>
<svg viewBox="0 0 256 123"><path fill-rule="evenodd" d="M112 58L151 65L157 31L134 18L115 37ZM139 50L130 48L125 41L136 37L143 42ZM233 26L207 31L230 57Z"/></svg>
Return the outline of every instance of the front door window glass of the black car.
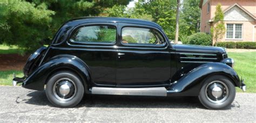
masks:
<svg viewBox="0 0 256 123"><path fill-rule="evenodd" d="M164 38L157 30L125 27L122 29L123 44L164 44Z"/></svg>

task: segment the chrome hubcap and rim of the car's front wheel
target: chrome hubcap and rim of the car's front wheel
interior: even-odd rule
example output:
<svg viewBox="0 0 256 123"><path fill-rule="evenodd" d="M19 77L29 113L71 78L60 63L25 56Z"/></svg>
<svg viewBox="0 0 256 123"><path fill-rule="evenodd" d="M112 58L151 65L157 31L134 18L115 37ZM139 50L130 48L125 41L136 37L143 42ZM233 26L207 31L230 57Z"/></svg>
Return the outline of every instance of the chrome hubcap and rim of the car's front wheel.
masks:
<svg viewBox="0 0 256 123"><path fill-rule="evenodd" d="M212 103L223 103L228 97L228 87L222 81L212 81L206 86L205 94Z"/></svg>

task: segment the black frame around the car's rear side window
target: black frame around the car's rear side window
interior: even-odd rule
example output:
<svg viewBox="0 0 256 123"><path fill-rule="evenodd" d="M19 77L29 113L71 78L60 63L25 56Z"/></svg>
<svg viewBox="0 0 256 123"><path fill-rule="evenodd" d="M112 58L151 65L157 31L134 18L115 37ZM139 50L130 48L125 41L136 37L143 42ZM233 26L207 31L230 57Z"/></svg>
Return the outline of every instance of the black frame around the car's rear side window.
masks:
<svg viewBox="0 0 256 123"><path fill-rule="evenodd" d="M104 25L104 26L113 26L116 29L116 40L113 43L102 43L102 42L76 42L71 41L71 37L73 36L73 34L80 28L86 27L86 26L100 26L100 25ZM117 43L118 40L118 28L116 24L110 24L110 23L90 23L90 24L83 24L83 25L78 25L76 26L76 28L74 28L68 38L68 43L70 44L83 44L83 45L114 45Z"/></svg>

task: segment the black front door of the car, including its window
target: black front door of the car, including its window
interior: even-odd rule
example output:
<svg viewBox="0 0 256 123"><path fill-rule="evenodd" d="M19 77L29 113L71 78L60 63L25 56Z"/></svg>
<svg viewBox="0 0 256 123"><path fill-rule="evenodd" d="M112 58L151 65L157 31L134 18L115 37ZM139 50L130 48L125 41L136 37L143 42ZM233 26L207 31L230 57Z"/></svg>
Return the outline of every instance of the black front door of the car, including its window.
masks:
<svg viewBox="0 0 256 123"><path fill-rule="evenodd" d="M152 26L118 24L118 86L149 87L170 84L170 44Z"/></svg>

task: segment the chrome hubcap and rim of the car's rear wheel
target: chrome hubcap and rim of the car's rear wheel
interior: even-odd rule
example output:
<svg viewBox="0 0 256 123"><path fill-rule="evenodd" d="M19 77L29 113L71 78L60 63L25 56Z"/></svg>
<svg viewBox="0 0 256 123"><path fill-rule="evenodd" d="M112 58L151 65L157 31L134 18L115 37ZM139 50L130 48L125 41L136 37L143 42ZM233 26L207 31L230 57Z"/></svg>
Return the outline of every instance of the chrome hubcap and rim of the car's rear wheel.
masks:
<svg viewBox="0 0 256 123"><path fill-rule="evenodd" d="M53 85L53 94L61 101L69 101L76 95L75 83L69 78L62 78Z"/></svg>

